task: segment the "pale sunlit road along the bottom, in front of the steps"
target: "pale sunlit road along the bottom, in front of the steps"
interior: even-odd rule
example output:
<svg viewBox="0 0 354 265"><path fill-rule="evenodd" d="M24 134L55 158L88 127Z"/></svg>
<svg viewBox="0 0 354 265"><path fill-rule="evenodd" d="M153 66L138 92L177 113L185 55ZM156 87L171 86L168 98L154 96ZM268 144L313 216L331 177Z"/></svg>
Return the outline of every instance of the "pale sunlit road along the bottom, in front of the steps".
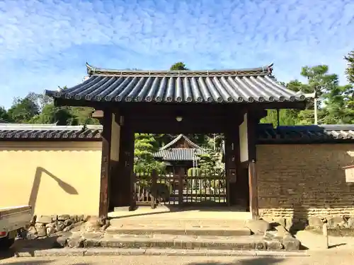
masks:
<svg viewBox="0 0 354 265"><path fill-rule="evenodd" d="M348 265L354 264L354 253L319 252L312 257L169 257L169 256L117 256L117 257L32 257L0 260L8 265Z"/></svg>

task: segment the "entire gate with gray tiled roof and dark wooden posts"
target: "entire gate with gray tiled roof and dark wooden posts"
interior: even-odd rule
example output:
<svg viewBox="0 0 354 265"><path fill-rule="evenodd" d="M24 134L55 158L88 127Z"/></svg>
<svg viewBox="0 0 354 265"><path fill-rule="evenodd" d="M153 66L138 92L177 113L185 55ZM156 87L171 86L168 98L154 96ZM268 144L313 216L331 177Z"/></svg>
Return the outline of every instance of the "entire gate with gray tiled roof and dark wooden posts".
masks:
<svg viewBox="0 0 354 265"><path fill-rule="evenodd" d="M86 64L86 67L90 76L86 82L68 90L46 90L45 93L55 98L55 106L57 107L93 107L98 111L98 118L100 118L103 125L99 205L99 216L102 218L108 218L109 207L113 204L130 206L131 208L135 206L135 198L132 196L134 192L132 192L130 181L134 158L135 132L224 133L226 136L225 164L227 177L229 179L232 177L233 180L235 176L241 177L244 174L241 174L241 172L246 171L242 169L242 166L248 170L251 212L253 218L258 218L255 125L261 117L265 117L266 109L292 108L304 110L308 99L313 97L313 95L292 93L290 90L285 92L285 88L271 80L273 78L273 64L253 69L232 71L121 71L98 69L89 66L89 64ZM130 80L132 76L134 78ZM154 78L154 83L155 81L160 83L158 90L147 81L144 83L144 78L147 76ZM193 90L194 100L192 96L182 96L183 88L181 89L179 85L176 85L176 87L178 86L180 89L173 91L175 89L172 85L173 79L180 76L185 76L184 80L187 83L191 82L190 86L188 85L188 88L186 88L187 90L184 91L185 93L188 93L187 91L192 93ZM206 85L204 81L200 85L195 85L195 77L198 76L200 78L208 77L207 84L209 85ZM242 94L237 97L236 102L232 99L236 96L234 93L232 93L232 96L230 94L230 98L226 100L224 98L226 96L225 93L231 92L224 91L224 88L222 89L224 92L219 91L219 86L222 85L218 85L221 81L217 80L222 78L222 76L227 79L249 77L247 81L237 81L241 83L239 85L235 84L237 90L234 93ZM165 77L169 78L169 84L163 81ZM194 81L189 82L188 78L192 78ZM209 78L216 78L216 83L212 85L213 81ZM122 81L123 79L124 81ZM122 83L119 83L119 80ZM179 80L181 81L181 79ZM143 87L142 83L144 83ZM259 88L256 88L258 85ZM197 88L198 86L200 88ZM209 90L205 86L212 86L210 87L210 93L213 95L196 96L195 93L204 94ZM228 86L234 87L234 85ZM149 90L149 93L142 100L140 93L146 93L146 89ZM138 90L140 91L139 95L137 94ZM198 92L199 90L200 92ZM173 94L175 93L177 98L173 100ZM219 93L219 97L216 98ZM259 97L254 97L256 94L260 94ZM286 96L283 94L286 94ZM105 96L103 97L103 95ZM185 98L185 101L182 100L183 98ZM114 121L112 120L113 113ZM239 125L243 122L245 113L247 113L248 119L249 156L246 158L245 163L240 163ZM183 120L177 122L176 117L178 116L183 117ZM117 153L114 153L115 162L111 161L110 152L118 151L113 149L118 148L118 145L112 146L111 132L112 129L118 128L118 126L116 126L117 124L112 126L112 122L120 124L119 161ZM119 183L118 192L115 192L111 187L117 183ZM237 199L234 189L235 184L229 183L229 201L232 203Z"/></svg>

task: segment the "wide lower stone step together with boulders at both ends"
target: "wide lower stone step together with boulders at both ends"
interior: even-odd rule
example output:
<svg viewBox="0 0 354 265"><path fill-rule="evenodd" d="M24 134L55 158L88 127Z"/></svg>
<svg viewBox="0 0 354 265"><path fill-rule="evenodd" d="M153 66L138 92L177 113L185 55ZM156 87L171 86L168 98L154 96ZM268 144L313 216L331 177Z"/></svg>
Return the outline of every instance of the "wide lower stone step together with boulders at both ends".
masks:
<svg viewBox="0 0 354 265"><path fill-rule="evenodd" d="M267 249L299 250L300 243L293 237L275 237L274 235L118 235L105 232L64 232L59 237L46 237L37 240L16 240L13 246L21 249L50 248L122 248L122 249Z"/></svg>

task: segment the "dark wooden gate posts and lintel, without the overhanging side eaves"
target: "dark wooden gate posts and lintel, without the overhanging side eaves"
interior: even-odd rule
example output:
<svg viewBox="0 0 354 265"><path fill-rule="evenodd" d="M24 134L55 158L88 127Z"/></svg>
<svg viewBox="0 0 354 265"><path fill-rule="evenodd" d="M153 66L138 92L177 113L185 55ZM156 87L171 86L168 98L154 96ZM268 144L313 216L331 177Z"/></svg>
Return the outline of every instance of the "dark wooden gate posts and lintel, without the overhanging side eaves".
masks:
<svg viewBox="0 0 354 265"><path fill-rule="evenodd" d="M120 168L119 173L110 172L110 132L112 113L120 116ZM224 133L225 135L225 170L227 174L227 196L230 204L236 204L236 183L230 183L229 178L240 176L242 167L249 168L249 201L253 218L258 218L258 193L256 179L256 131L255 125L265 117L265 110L250 107L230 107L225 105L157 105L157 106L128 106L120 108L105 108L95 112L103 125L102 166L99 215L108 217L110 201L117 206L135 208L136 200L132 186L132 167L134 158L134 134L140 133ZM98 113L98 114L97 114ZM249 160L239 161L239 125L243 122L244 113L248 113ZM176 116L183 117L182 122L176 121ZM113 199L110 194L112 178L119 177L124 181L124 188L119 189L119 199ZM130 179L129 183L126 181ZM117 183L118 181L115 181ZM112 200L113 199L113 200Z"/></svg>

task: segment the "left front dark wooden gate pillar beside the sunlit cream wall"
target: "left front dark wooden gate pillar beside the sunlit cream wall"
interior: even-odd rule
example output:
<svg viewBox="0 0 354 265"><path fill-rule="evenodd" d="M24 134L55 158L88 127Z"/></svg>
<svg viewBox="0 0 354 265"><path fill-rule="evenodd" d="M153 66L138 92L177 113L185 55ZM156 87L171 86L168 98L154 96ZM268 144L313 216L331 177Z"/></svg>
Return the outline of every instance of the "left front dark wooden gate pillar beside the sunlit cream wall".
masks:
<svg viewBox="0 0 354 265"><path fill-rule="evenodd" d="M102 156L101 156L101 182L100 182L100 203L98 215L101 218L108 218L109 192L110 192L110 144L112 134L112 112L109 109L96 112L100 120L102 131ZM98 117L100 116L100 117Z"/></svg>

